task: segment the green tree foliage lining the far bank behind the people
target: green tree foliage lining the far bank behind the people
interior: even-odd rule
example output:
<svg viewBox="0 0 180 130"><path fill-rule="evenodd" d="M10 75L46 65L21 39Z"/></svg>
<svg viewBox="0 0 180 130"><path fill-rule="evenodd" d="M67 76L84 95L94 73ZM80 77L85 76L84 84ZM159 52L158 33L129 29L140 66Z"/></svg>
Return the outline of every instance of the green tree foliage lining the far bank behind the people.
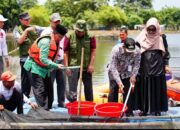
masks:
<svg viewBox="0 0 180 130"><path fill-rule="evenodd" d="M0 14L8 18L5 28L13 28L18 23L18 15L28 11L32 24L48 26L49 16L59 12L62 24L72 28L78 19L85 19L91 29L113 28L128 25L133 29L136 24L145 24L150 17L157 17L161 24L173 30L180 28L180 8L152 9L152 0L47 0L38 6L37 0L1 0Z"/></svg>

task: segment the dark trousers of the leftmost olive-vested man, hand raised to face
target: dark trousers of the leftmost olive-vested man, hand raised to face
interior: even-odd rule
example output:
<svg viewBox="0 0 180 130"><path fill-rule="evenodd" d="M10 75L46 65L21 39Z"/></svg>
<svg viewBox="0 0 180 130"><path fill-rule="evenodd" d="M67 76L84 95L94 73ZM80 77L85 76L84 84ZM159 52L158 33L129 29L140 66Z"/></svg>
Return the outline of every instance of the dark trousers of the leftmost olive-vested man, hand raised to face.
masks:
<svg viewBox="0 0 180 130"><path fill-rule="evenodd" d="M26 95L29 98L30 92L31 92L31 73L24 69L24 63L23 61L20 61L21 65L21 86L22 86L22 92L24 95Z"/></svg>

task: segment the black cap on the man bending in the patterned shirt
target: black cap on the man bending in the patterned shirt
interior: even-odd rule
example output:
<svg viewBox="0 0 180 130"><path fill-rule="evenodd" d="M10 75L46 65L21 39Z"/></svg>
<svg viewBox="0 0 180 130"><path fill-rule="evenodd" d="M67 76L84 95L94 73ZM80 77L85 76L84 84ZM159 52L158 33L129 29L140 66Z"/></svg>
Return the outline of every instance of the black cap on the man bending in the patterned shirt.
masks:
<svg viewBox="0 0 180 130"><path fill-rule="evenodd" d="M136 50L136 44L135 44L134 39L132 38L127 38L124 43L124 46L127 52L135 52Z"/></svg>

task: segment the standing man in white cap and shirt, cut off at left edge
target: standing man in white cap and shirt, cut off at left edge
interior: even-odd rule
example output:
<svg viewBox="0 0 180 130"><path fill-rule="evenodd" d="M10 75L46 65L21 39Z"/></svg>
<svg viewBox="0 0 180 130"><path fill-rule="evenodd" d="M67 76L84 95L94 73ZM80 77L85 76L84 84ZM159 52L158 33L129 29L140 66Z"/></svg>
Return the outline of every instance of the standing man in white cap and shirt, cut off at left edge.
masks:
<svg viewBox="0 0 180 130"><path fill-rule="evenodd" d="M5 58L6 67L9 67L6 33L3 30L5 21L7 21L7 19L0 14L0 75L2 74L4 69L3 57Z"/></svg>

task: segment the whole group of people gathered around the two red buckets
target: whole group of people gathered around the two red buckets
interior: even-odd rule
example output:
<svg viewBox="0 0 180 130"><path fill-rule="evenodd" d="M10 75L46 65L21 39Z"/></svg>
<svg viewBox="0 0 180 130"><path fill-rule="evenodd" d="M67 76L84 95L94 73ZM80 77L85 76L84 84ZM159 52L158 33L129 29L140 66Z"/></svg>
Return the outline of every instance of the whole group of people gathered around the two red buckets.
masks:
<svg viewBox="0 0 180 130"><path fill-rule="evenodd" d="M4 56L8 66L5 32L2 30L6 20L0 15L0 44L5 48L0 50L0 62ZM36 108L37 106L28 99L31 86L38 106L45 110L51 109L55 79L58 106L64 107L67 87L65 80L69 82L70 91L76 92L78 78L75 78L73 73L77 72L78 76L80 73L79 68L71 70L68 67L80 65L82 48L85 49L82 75L85 99L93 101L92 74L96 56L96 38L89 33L86 21L78 20L73 31L68 31L61 25L59 13L51 15L50 27L31 26L27 12L19 15L19 21L20 25L15 27L13 34L19 44L21 89L15 82L15 75L9 71L4 72L0 84L0 110L4 106L12 111L14 106L11 104L16 102L14 105L18 106L18 113L22 113L23 100ZM165 73L170 72L168 67L170 56L166 37L161 34L158 20L150 18L135 40L129 38L128 29L122 27L120 39L120 44L112 49L108 64L110 83L108 102L118 102L120 90L123 93L123 102L128 98L127 116L133 116L133 110L141 110L141 115L161 115L161 111L168 110ZM2 68L3 63L0 66ZM66 74L62 70L63 67L66 68ZM132 93L127 97L130 87ZM16 96L18 94L19 96ZM73 96L67 96L67 99L71 102L76 100Z"/></svg>

